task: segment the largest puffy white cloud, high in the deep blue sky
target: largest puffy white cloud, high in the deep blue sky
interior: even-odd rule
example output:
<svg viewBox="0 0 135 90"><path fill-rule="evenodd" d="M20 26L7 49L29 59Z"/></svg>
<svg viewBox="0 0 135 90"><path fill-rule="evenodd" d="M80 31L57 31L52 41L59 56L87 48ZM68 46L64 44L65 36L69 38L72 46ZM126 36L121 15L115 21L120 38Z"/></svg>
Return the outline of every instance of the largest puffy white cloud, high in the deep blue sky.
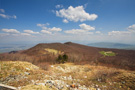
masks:
<svg viewBox="0 0 135 90"><path fill-rule="evenodd" d="M68 9L61 9L56 11L56 16L65 18L69 21L87 21L87 20L95 20L98 15L96 14L89 14L84 10L83 6L72 7L69 6Z"/></svg>

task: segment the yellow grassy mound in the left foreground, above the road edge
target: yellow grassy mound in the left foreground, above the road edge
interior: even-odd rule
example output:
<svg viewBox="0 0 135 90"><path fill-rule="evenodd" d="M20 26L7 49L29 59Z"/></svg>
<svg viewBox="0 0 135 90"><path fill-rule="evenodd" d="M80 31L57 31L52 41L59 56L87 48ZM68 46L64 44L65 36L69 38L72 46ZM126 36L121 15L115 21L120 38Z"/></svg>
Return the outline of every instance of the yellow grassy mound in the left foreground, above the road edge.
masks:
<svg viewBox="0 0 135 90"><path fill-rule="evenodd" d="M6 84L10 86L24 86L30 84L31 80L40 79L44 75L44 70L28 62L0 61L0 82L8 81Z"/></svg>

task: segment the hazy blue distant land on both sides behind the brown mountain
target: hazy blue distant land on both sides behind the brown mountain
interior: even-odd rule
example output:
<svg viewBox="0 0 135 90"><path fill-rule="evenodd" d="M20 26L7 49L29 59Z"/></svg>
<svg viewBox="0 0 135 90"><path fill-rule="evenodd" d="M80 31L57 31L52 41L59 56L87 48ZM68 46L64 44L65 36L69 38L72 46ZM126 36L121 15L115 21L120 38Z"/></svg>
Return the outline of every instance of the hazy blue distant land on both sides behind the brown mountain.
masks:
<svg viewBox="0 0 135 90"><path fill-rule="evenodd" d="M122 43L100 42L100 43L91 43L91 44L86 44L86 45L93 46L93 47L100 47L100 48L135 50L135 45L122 44ZM32 46L34 46L34 44L11 44L11 45L4 44L4 45L0 45L0 53L25 50Z"/></svg>

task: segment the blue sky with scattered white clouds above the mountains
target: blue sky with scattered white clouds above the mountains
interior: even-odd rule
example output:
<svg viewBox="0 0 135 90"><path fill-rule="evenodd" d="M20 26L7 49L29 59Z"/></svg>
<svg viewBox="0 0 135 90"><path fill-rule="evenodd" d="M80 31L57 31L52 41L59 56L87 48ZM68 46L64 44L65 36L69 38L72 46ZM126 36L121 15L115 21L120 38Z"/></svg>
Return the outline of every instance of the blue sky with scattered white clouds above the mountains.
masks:
<svg viewBox="0 0 135 90"><path fill-rule="evenodd" d="M0 44L135 44L135 0L0 0Z"/></svg>

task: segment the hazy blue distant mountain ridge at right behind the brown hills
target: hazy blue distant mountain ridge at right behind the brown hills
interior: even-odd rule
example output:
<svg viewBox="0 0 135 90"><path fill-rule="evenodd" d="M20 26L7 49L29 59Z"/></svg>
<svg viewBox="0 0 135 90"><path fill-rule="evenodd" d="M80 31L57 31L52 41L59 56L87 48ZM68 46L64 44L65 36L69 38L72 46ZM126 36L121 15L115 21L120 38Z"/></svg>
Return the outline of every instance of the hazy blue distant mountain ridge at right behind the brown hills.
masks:
<svg viewBox="0 0 135 90"><path fill-rule="evenodd" d="M135 50L135 45L122 44L122 43L99 42L99 43L88 44L88 46L94 46L94 47L100 47L100 48L116 48L116 49Z"/></svg>

